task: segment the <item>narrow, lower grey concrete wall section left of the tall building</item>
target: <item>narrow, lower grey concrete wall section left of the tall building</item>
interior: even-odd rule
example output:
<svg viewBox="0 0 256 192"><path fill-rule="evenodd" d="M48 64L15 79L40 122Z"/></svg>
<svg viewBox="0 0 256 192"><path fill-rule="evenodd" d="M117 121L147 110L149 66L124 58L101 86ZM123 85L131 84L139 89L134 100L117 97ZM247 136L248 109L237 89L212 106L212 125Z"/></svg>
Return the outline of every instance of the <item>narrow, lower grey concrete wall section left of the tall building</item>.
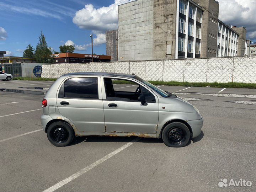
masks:
<svg viewBox="0 0 256 192"><path fill-rule="evenodd" d="M111 61L118 61L118 30L106 31L106 55Z"/></svg>

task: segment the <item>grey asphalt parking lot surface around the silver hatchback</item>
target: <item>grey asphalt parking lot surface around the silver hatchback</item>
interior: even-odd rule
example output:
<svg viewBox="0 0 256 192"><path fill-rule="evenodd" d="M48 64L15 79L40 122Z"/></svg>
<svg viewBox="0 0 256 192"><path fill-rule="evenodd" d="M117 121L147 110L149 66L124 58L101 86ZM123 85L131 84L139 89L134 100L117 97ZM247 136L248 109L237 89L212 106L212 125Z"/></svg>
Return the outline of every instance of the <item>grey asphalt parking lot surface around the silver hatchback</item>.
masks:
<svg viewBox="0 0 256 192"><path fill-rule="evenodd" d="M204 117L183 148L134 137L79 137L58 148L40 123L52 84L0 81L0 191L256 191L255 89L159 86ZM224 178L252 185L219 187Z"/></svg>

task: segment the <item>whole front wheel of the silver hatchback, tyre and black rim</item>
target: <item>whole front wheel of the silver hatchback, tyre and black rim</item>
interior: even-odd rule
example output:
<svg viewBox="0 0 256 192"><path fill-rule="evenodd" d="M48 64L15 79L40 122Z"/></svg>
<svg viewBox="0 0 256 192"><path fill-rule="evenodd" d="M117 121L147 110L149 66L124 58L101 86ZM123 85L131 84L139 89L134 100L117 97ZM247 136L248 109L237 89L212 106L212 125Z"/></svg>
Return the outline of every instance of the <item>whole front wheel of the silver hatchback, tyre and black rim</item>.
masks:
<svg viewBox="0 0 256 192"><path fill-rule="evenodd" d="M183 147L190 140L190 131L184 123L172 122L162 131L162 140L169 147Z"/></svg>

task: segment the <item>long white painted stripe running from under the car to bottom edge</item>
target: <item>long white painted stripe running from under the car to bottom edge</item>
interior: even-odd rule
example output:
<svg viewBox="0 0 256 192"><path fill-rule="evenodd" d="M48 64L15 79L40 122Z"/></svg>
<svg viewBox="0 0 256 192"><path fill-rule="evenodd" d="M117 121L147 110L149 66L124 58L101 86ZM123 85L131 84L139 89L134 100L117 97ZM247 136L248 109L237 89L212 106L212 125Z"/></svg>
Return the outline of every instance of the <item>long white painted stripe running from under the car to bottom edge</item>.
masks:
<svg viewBox="0 0 256 192"><path fill-rule="evenodd" d="M112 156L116 155L117 153L119 153L120 151L126 149L127 147L129 147L130 145L134 144L135 142L137 142L139 139L141 138L136 138L134 140L132 140L131 142L121 146L120 148L118 148L117 150L114 150L113 152L111 152L110 154L106 155L105 157L101 158L100 160L95 161L94 163L92 163L91 165L85 167L84 169L76 172L75 174L65 178L64 180L58 182L57 184L55 184L54 186L48 188L47 190L44 190L43 192L53 192L55 190L57 190L58 188L66 185L67 183L69 183L70 181L74 180L75 178L81 176L82 174L85 174L87 171L91 170L92 168L96 167L97 165L100 165L101 163L103 163L104 161L108 160L109 158L111 158Z"/></svg>

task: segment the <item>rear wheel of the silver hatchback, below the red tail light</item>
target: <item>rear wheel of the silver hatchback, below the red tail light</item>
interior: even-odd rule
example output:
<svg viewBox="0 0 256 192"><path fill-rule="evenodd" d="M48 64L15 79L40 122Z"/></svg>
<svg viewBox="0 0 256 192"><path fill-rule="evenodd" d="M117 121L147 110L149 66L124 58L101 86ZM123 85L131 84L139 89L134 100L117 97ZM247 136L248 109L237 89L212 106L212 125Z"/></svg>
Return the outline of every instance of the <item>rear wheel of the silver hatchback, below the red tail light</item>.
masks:
<svg viewBox="0 0 256 192"><path fill-rule="evenodd" d="M63 121L54 122L50 124L47 129L47 138L49 142L58 147L69 145L74 137L74 129L70 124Z"/></svg>

